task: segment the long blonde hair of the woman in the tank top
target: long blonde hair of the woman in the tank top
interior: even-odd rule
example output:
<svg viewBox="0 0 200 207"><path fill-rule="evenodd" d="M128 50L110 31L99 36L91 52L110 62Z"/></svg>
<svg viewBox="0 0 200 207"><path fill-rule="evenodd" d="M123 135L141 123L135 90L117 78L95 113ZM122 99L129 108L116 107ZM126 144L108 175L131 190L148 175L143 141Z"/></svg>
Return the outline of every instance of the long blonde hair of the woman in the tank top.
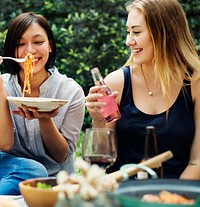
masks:
<svg viewBox="0 0 200 207"><path fill-rule="evenodd" d="M154 45L154 72L163 94L170 98L170 82L200 77L200 60L185 12L178 0L135 0L126 9L138 9L145 18ZM132 55L125 65L134 65ZM197 75L192 75L197 74Z"/></svg>

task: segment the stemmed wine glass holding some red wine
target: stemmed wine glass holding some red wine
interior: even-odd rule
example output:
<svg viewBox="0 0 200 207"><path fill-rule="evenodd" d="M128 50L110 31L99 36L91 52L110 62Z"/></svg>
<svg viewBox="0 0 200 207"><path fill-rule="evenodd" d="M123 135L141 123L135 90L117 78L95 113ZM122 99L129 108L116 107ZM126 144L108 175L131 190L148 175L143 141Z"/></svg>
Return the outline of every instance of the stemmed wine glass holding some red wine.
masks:
<svg viewBox="0 0 200 207"><path fill-rule="evenodd" d="M117 146L114 129L87 128L83 141L82 156L90 164L97 164L105 170L117 158Z"/></svg>

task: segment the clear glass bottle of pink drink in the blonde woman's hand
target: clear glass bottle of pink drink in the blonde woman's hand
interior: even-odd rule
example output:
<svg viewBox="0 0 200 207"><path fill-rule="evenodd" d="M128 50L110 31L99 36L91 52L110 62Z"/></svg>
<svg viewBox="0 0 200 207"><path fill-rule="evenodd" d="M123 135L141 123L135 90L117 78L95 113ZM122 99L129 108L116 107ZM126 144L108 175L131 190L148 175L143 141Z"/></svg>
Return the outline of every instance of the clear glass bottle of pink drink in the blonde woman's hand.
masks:
<svg viewBox="0 0 200 207"><path fill-rule="evenodd" d="M101 86L100 93L103 94L103 97L99 98L97 101L106 102L106 105L101 107L105 121L111 122L118 120L121 117L121 114L115 98L112 95L112 91L106 86L98 68L91 69L91 73L95 85Z"/></svg>

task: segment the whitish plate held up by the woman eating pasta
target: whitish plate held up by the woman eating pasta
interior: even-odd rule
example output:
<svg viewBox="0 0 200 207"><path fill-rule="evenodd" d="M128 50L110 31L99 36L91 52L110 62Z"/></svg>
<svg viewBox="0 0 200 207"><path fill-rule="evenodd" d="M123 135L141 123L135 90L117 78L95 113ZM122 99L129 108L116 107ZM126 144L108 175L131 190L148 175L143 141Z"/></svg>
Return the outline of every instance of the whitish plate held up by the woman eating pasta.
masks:
<svg viewBox="0 0 200 207"><path fill-rule="evenodd" d="M39 98L39 97L13 97L8 96L7 100L18 107L26 106L29 110L36 109L39 112L50 112L60 108L68 101L63 99Z"/></svg>

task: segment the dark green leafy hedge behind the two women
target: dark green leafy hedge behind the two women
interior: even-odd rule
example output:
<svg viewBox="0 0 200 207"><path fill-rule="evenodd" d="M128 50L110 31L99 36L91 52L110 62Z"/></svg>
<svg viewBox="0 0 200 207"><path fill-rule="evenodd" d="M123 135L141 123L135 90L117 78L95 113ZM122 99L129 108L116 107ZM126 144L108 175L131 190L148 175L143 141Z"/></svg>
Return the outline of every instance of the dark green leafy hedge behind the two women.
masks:
<svg viewBox="0 0 200 207"><path fill-rule="evenodd" d="M57 68L74 78L87 94L93 85L90 68L98 66L106 75L121 67L128 58L125 3L124 0L3 0L0 54L10 20L26 11L40 13L47 18L55 34ZM199 0L182 0L181 3L200 51ZM0 70L3 71L2 66ZM83 130L90 124L86 112Z"/></svg>

